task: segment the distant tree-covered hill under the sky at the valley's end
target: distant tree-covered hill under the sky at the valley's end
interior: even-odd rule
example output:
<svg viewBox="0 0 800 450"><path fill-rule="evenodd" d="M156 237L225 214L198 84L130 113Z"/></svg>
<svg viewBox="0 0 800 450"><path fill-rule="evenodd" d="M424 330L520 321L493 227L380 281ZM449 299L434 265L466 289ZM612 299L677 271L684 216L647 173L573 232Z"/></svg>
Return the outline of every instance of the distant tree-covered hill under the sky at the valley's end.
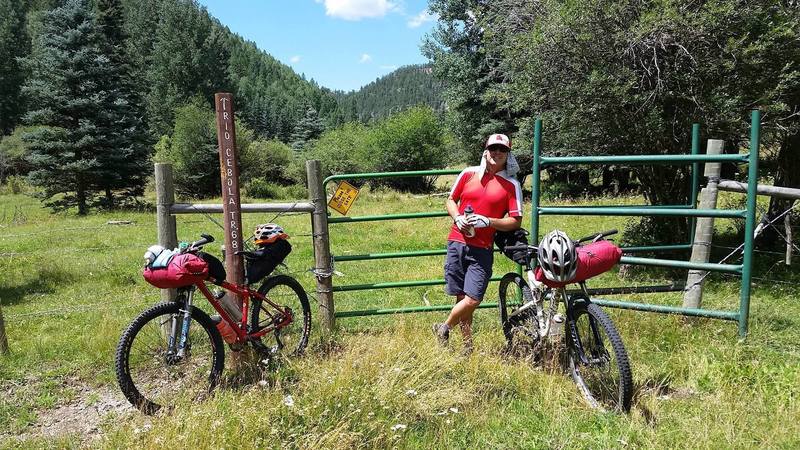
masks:
<svg viewBox="0 0 800 450"><path fill-rule="evenodd" d="M427 65L401 67L358 91L337 93L345 121L371 122L416 105L444 110L442 83Z"/></svg>

